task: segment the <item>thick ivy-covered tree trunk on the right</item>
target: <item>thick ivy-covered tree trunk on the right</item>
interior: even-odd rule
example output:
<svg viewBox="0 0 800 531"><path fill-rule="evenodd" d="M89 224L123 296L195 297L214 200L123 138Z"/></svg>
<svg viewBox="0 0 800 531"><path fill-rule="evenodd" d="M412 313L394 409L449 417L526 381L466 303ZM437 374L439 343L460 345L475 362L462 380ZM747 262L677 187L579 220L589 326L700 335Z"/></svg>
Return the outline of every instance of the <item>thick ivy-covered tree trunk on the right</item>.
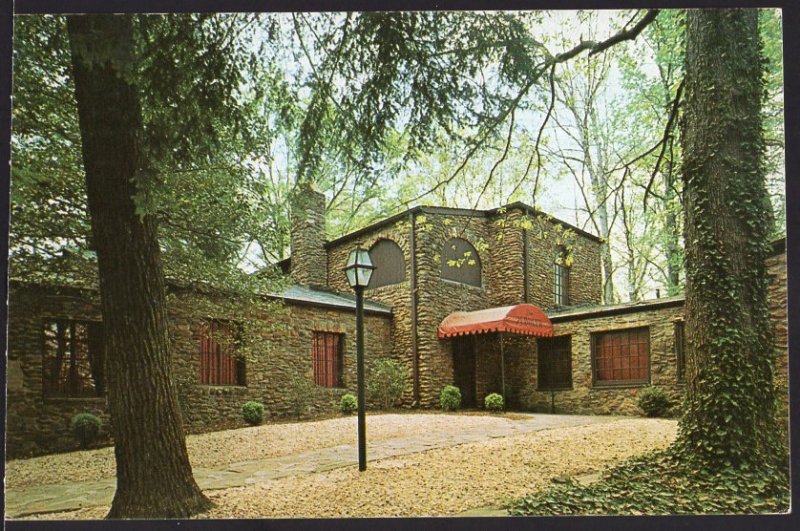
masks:
<svg viewBox="0 0 800 531"><path fill-rule="evenodd" d="M760 467L779 446L756 10L689 11L685 86L688 408L676 449L712 469Z"/></svg>

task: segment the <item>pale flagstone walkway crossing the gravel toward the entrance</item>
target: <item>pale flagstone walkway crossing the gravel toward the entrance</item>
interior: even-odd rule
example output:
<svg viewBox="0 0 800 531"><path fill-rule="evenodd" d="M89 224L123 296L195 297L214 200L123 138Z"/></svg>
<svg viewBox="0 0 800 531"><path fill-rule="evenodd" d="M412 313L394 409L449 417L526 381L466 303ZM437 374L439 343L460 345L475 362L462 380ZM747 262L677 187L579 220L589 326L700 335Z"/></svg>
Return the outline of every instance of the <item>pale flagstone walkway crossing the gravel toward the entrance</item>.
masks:
<svg viewBox="0 0 800 531"><path fill-rule="evenodd" d="M505 426L474 428L458 433L430 431L424 435L369 443L367 423L367 460L424 452L433 448L456 446L489 438L510 437L553 428L609 423L619 417L580 415L527 415ZM321 448L271 459L244 461L219 468L195 468L194 477L203 490L227 489L287 476L313 474L358 464L355 445ZM367 465L369 466L369 464ZM116 480L85 481L40 485L6 492L6 518L31 514L72 511L85 507L110 505ZM478 508L476 511L488 508ZM467 514L465 514L467 516Z"/></svg>

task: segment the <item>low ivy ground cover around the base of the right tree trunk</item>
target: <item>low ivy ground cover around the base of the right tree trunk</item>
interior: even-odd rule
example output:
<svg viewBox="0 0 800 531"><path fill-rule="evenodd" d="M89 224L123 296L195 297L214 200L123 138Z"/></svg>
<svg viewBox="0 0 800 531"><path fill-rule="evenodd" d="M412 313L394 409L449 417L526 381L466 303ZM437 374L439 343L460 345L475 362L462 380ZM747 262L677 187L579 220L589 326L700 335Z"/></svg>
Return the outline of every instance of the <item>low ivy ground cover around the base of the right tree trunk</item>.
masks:
<svg viewBox="0 0 800 531"><path fill-rule="evenodd" d="M569 480L509 504L515 516L751 514L788 509L787 470L709 472L683 466L665 453L629 460L596 483Z"/></svg>

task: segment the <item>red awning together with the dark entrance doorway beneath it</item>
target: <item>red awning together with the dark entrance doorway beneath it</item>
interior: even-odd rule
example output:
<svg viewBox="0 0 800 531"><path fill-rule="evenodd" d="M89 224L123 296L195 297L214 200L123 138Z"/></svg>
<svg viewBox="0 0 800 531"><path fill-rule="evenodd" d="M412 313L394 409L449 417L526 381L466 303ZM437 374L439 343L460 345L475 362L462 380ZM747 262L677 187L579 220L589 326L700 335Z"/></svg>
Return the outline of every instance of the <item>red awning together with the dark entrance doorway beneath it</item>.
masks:
<svg viewBox="0 0 800 531"><path fill-rule="evenodd" d="M545 313L533 304L517 304L488 308L474 312L453 312L439 324L439 339L453 338L453 380L462 393L471 399L474 395L476 359L474 342L465 343L463 336L497 333L500 347L500 384L503 399L507 402L506 371L503 337L506 333L534 337L551 337L553 324ZM458 341L456 341L458 340ZM471 344L471 345L470 345ZM466 348L466 347L472 348ZM471 372L471 374L470 374ZM466 392L464 392L466 391ZM470 404L472 406L474 404Z"/></svg>

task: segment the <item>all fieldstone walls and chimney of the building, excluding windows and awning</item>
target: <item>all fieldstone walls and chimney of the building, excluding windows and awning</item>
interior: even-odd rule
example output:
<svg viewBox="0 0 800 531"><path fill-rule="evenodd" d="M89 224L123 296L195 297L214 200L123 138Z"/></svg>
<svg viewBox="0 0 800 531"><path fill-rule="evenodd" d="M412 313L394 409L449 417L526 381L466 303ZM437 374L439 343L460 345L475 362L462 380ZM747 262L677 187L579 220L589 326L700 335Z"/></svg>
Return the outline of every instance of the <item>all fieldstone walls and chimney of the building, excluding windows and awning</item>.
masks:
<svg viewBox="0 0 800 531"><path fill-rule="evenodd" d="M387 285L365 293L372 301L365 316L366 358L368 363L379 357L393 358L406 368L404 406L438 407L441 389L464 381L465 374L468 383L462 385L469 392L462 394L471 395L475 407L483 407L487 394L505 389L511 409L633 415L640 414L638 394L646 385L662 387L679 403L684 383L678 378L675 323L684 318L683 299L600 305L599 238L515 203L485 211L416 207L325 243L324 196L301 189L292 201L293 255L290 262L279 265L285 271L291 264L289 276L295 286L274 296L283 304L256 320L263 326L253 336L257 341L243 349L244 385L203 385L200 369L204 320L239 323L242 315L225 310L229 306L223 304L222 295L174 287L170 291L174 379L187 431L242 426L240 408L248 400L263 402L268 416L276 418L297 415L299 407L308 414L330 412L338 407L342 394L355 392L355 319L351 301L342 303L352 297L343 269L356 244L369 249L382 240L397 245L403 263L397 263L398 252L393 250L391 266L397 274L386 277L391 278ZM453 254L456 248L467 251L460 257ZM554 290L555 264L560 259L569 271L566 306L557 306ZM788 405L785 242L776 245L768 274L776 331L776 385ZM97 294L12 283L9 301L7 455L74 449L69 420L83 411L103 419L103 436L108 440L105 398L54 399L43 393L45 322L100 321ZM507 333L467 336L466 340L438 337L439 324L452 312L520 303L542 308L554 334L570 337L571 385L555 391L541 388L540 342L535 337ZM201 307L206 310L198 316ZM597 385L592 338L601 332L637 328L647 330L646 381ZM341 387L313 384L315 332L343 336ZM298 389L310 395L307 403L298 404Z"/></svg>

